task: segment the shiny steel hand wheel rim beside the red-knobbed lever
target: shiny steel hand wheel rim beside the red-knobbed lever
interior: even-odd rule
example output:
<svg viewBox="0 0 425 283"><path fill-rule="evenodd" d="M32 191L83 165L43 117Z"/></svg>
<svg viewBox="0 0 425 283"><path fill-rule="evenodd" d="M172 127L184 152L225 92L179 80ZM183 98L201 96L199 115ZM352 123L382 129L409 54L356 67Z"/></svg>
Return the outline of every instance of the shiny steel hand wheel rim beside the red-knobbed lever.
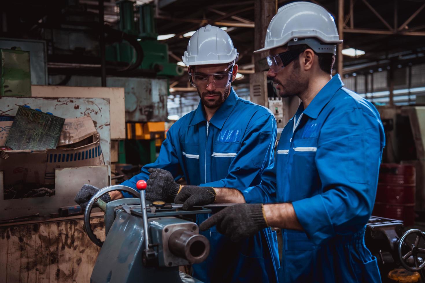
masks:
<svg viewBox="0 0 425 283"><path fill-rule="evenodd" d="M90 213L94 204L99 206L100 209L102 209L105 212L106 203L102 199L100 199L100 197L103 196L105 193L109 193L112 191L125 191L127 193L133 194L134 196L140 197L140 193L138 191L123 185L112 185L112 186L105 187L99 190L97 193L95 193L91 197L84 211L84 227L85 227L85 231L87 232L88 238L90 238L90 240L93 241L93 243L99 247L102 247L103 242L99 238L97 238L96 235L94 235L93 230L91 230Z"/></svg>

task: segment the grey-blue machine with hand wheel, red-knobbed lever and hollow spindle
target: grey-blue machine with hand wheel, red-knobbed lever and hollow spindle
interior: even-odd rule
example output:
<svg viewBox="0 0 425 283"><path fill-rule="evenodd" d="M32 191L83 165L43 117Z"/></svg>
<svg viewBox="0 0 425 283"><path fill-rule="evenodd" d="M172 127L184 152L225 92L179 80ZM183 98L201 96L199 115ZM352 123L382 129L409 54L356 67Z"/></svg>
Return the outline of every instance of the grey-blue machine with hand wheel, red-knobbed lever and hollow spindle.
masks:
<svg viewBox="0 0 425 283"><path fill-rule="evenodd" d="M139 182L141 182L140 180ZM144 181L143 181L144 182ZM137 184L140 189L140 184ZM146 183L144 183L144 188ZM100 199L110 191L126 191L137 198L105 203ZM105 212L105 242L91 230L90 213L96 205ZM96 260L91 282L195 282L178 271L178 266L201 263L210 252L210 243L199 234L198 225L187 216L211 213L215 204L181 210L182 205L149 202L144 191L112 185L99 190L85 209L84 225L89 238L102 247ZM143 209L142 209L143 208Z"/></svg>

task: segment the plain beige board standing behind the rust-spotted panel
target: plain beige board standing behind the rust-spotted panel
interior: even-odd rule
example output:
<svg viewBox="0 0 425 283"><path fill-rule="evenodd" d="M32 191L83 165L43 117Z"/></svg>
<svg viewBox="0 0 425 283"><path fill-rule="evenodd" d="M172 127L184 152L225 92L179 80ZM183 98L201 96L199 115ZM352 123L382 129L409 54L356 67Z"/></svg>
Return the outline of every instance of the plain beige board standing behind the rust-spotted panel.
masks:
<svg viewBox="0 0 425 283"><path fill-rule="evenodd" d="M58 76L55 76L58 77ZM75 78L77 77L77 78ZM89 78L80 81L80 78ZM99 84L96 82L99 81ZM71 82L73 84L71 84ZM89 84L91 82L91 84ZM85 85L87 87L67 86L37 86L31 87L32 97L75 97L75 98L109 98L111 102L111 139L125 139L124 89L122 87L100 87L100 78L72 76L70 85ZM99 87L91 87L99 86Z"/></svg>

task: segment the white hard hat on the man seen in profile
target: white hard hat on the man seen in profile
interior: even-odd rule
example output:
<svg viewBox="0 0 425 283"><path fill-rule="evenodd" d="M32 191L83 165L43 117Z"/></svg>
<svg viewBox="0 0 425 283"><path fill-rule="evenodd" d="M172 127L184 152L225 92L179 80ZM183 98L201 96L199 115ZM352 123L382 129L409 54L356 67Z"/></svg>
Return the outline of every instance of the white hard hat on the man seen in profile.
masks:
<svg viewBox="0 0 425 283"><path fill-rule="evenodd" d="M279 8L267 28L264 48L254 53L286 44L307 44L317 53L335 53L334 45L342 42L334 18L325 8L310 2L294 2Z"/></svg>

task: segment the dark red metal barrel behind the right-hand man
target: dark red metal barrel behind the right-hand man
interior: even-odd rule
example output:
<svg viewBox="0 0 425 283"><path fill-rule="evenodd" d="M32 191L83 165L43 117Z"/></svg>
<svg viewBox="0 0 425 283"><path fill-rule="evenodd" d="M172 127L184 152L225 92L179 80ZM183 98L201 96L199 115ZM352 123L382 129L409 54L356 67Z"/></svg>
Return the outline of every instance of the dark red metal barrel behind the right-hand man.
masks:
<svg viewBox="0 0 425 283"><path fill-rule="evenodd" d="M376 193L374 216L414 224L416 171L413 165L382 163Z"/></svg>

